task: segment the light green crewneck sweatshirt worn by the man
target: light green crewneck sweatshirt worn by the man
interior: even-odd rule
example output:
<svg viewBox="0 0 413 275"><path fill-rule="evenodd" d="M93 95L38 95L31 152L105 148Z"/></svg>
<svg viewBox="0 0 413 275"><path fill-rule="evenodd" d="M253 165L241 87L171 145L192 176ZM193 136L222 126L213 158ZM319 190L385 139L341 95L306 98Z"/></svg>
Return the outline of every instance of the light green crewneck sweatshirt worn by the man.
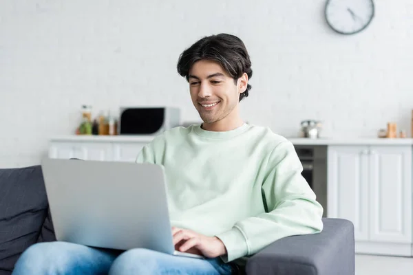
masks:
<svg viewBox="0 0 413 275"><path fill-rule="evenodd" d="M323 228L323 208L293 144L268 128L177 127L142 148L136 162L165 167L171 224L217 236L225 262Z"/></svg>

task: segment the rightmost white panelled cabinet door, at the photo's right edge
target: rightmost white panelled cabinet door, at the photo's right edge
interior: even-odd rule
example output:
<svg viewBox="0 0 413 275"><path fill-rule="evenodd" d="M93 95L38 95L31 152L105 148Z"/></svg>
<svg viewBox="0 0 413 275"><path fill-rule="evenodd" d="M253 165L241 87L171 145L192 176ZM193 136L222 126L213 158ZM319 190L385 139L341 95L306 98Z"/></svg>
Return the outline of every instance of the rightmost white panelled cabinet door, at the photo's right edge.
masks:
<svg viewBox="0 0 413 275"><path fill-rule="evenodd" d="M370 147L370 240L412 243L412 148Z"/></svg>

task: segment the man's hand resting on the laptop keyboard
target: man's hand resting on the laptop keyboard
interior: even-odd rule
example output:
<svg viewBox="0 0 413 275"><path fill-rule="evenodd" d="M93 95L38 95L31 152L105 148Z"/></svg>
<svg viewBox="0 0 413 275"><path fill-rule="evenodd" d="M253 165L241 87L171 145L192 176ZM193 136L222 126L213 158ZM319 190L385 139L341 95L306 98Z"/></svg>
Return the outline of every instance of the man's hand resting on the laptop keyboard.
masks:
<svg viewBox="0 0 413 275"><path fill-rule="evenodd" d="M215 258L226 254L224 243L216 236L204 236L191 230L172 228L173 245L180 252Z"/></svg>

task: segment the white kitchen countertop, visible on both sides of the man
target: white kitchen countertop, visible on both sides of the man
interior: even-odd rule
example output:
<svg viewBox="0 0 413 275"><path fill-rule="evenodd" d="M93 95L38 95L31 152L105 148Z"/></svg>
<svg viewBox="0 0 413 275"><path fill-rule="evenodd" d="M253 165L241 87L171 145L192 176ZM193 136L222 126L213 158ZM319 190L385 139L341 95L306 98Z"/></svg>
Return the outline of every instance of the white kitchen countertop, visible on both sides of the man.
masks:
<svg viewBox="0 0 413 275"><path fill-rule="evenodd" d="M328 138L309 139L286 137L295 145L412 145L412 138ZM61 135L50 139L50 142L151 142L153 135Z"/></svg>

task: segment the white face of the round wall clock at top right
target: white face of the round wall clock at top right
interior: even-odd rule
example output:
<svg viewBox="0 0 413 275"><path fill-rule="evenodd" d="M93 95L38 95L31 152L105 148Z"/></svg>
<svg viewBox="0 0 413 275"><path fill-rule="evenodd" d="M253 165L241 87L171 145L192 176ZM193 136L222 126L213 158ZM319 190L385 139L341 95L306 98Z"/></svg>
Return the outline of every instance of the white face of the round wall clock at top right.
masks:
<svg viewBox="0 0 413 275"><path fill-rule="evenodd" d="M326 21L340 34L355 34L365 29L374 17L372 0L328 0Z"/></svg>

